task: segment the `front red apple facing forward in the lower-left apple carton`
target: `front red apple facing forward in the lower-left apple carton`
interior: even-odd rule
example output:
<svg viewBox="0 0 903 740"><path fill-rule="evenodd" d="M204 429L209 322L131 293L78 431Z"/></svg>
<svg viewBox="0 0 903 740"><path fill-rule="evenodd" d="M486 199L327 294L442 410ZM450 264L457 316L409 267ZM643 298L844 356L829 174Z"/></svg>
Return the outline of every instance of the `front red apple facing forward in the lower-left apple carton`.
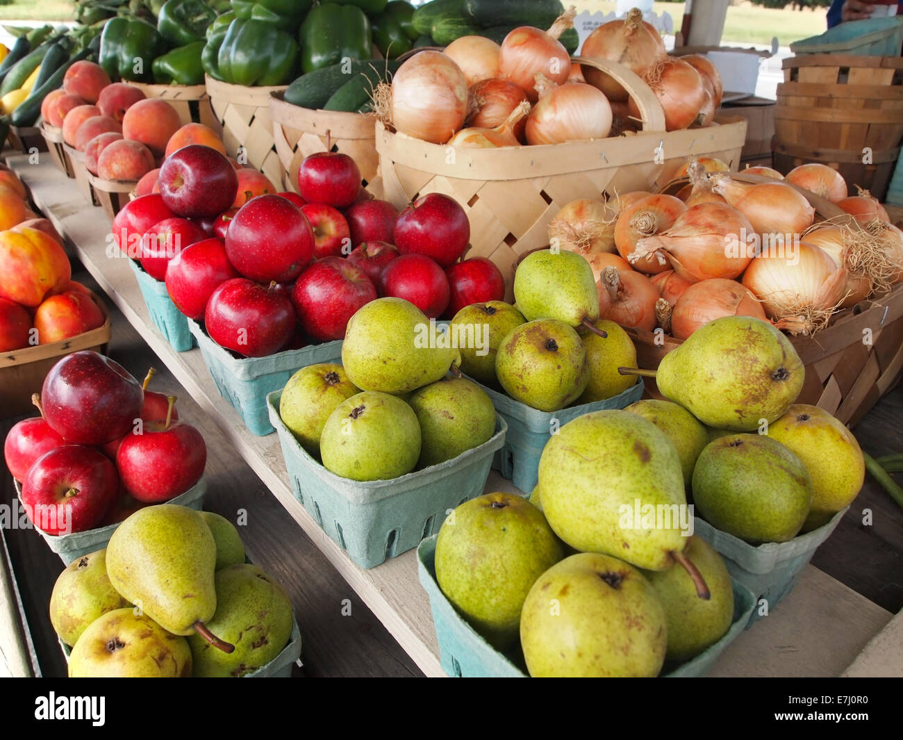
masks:
<svg viewBox="0 0 903 740"><path fill-rule="evenodd" d="M93 529L118 492L113 464L97 450L82 445L63 445L42 454L22 482L28 518L52 535Z"/></svg>

